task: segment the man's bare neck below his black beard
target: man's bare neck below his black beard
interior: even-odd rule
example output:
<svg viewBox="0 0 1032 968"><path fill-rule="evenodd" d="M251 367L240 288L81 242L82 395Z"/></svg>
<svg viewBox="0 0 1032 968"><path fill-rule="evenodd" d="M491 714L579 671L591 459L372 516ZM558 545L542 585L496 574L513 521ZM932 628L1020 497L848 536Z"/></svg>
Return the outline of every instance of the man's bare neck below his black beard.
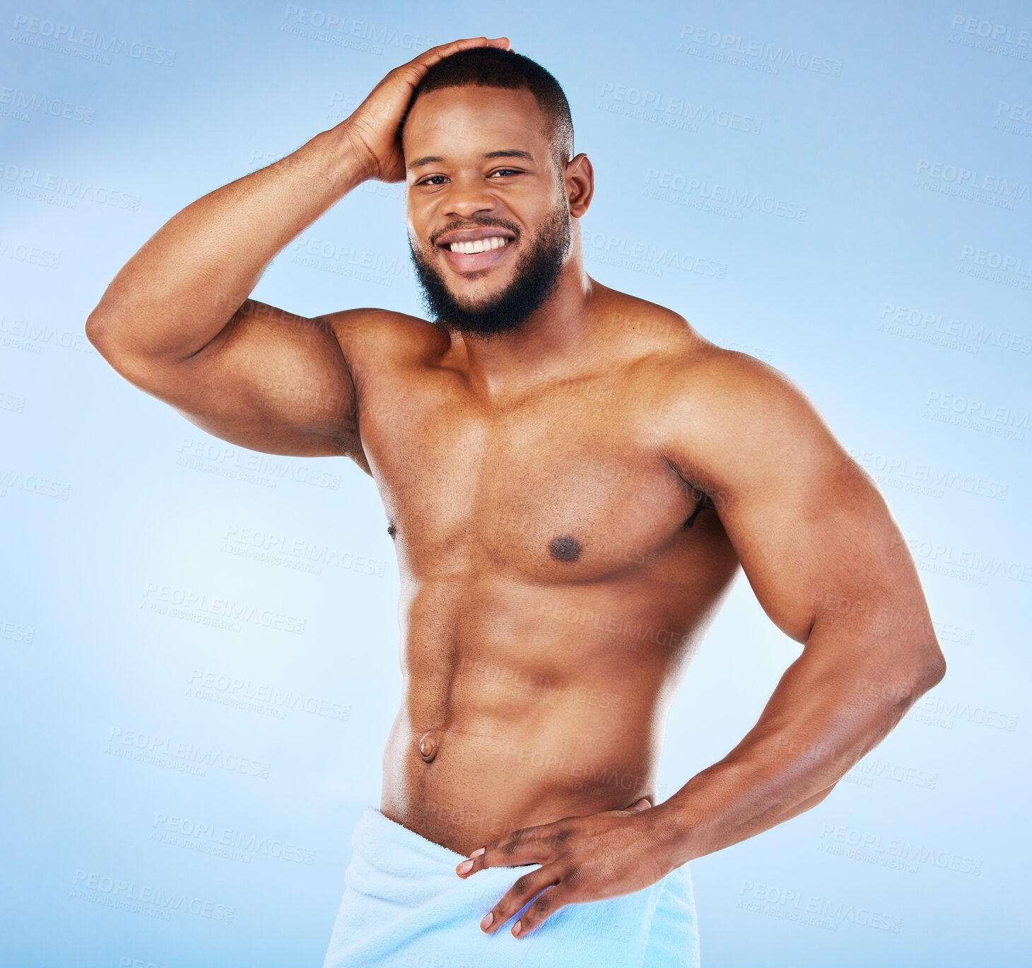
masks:
<svg viewBox="0 0 1032 968"><path fill-rule="evenodd" d="M599 288L585 271L580 253L575 252L555 292L515 332L494 336L452 333L452 346L464 354L463 368L473 386L489 394L520 389L582 362L592 330L591 303Z"/></svg>

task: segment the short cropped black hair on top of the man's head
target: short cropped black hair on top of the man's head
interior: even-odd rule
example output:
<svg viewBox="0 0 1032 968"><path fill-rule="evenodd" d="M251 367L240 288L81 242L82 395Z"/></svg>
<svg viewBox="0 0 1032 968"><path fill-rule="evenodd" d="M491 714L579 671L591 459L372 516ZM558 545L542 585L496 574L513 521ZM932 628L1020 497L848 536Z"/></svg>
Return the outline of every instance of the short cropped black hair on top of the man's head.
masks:
<svg viewBox="0 0 1032 968"><path fill-rule="evenodd" d="M559 83L537 61L502 47L466 47L438 61L416 86L398 125L398 138L420 94L464 85L529 91L545 116L544 133L552 144L552 156L561 175L563 166L574 157L574 122L567 96Z"/></svg>

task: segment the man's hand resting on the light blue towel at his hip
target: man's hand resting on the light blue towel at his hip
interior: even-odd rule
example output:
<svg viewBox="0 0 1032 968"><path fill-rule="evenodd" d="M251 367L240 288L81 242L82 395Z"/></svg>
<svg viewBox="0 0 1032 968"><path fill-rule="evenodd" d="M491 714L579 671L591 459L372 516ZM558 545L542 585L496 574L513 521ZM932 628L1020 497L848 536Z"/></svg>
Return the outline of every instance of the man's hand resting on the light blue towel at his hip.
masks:
<svg viewBox="0 0 1032 968"><path fill-rule="evenodd" d="M516 880L484 916L481 930L492 934L534 901L513 925L513 936L522 938L568 904L633 894L665 877L673 866L655 821L662 810L650 807L643 798L626 810L513 831L474 850L455 868L459 877L488 867L542 865Z"/></svg>

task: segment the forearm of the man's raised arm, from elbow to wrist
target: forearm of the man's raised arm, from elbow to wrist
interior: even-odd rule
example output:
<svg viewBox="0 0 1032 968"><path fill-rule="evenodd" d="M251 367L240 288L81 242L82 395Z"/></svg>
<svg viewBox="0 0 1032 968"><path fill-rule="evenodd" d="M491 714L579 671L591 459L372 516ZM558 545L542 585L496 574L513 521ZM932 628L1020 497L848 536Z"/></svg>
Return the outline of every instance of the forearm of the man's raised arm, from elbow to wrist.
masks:
<svg viewBox="0 0 1032 968"><path fill-rule="evenodd" d="M366 178L347 121L188 205L150 238L91 314L91 340L182 359L206 345L278 252Z"/></svg>

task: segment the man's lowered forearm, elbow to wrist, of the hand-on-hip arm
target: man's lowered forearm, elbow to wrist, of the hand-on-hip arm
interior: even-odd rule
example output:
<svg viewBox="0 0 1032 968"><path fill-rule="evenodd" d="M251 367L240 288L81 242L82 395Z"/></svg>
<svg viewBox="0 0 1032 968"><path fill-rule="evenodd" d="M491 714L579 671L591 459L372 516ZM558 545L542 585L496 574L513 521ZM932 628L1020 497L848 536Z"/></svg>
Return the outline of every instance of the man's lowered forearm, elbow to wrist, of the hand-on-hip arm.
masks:
<svg viewBox="0 0 1032 968"><path fill-rule="evenodd" d="M814 627L755 727L657 808L676 865L815 806L938 679L933 642Z"/></svg>

